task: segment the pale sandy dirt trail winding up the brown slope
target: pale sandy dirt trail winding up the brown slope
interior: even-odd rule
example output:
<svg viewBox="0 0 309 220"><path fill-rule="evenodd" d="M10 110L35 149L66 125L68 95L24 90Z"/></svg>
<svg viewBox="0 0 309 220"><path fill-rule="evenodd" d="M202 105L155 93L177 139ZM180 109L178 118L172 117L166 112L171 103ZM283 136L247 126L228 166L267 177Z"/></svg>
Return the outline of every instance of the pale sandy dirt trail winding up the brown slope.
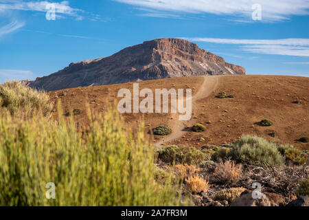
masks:
<svg viewBox="0 0 309 220"><path fill-rule="evenodd" d="M194 107L197 104L196 101L201 100L202 98L207 98L216 89L216 87L218 87L218 78L219 76L204 76L203 84L199 88L198 92L192 97L192 113L194 111ZM159 142L154 143L155 147L160 148L163 146L162 144L176 140L185 135L187 132L183 130L190 121L180 121L179 113L175 113L173 118L174 122L170 124L173 131L172 134L159 140Z"/></svg>

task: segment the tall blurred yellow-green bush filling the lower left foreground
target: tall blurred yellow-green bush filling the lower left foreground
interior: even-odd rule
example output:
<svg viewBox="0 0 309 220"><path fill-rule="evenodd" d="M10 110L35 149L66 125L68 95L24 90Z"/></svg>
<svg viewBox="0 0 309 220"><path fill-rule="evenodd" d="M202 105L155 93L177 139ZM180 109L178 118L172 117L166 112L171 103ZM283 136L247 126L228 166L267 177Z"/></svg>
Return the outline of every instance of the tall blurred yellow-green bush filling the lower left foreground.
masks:
<svg viewBox="0 0 309 220"><path fill-rule="evenodd" d="M90 118L84 139L76 126L43 116L0 114L0 206L174 206L168 184L155 181L153 148L142 129L134 142L119 116ZM47 183L56 199L47 199Z"/></svg>

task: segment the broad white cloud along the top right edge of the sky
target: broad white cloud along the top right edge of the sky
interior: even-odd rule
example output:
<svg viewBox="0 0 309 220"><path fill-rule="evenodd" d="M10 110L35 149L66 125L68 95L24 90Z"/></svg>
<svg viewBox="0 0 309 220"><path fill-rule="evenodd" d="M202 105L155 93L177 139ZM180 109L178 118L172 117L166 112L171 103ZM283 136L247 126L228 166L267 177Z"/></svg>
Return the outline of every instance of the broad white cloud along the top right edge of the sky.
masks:
<svg viewBox="0 0 309 220"><path fill-rule="evenodd" d="M233 15L251 19L252 5L262 5L264 21L282 21L309 14L309 0L115 0L159 11Z"/></svg>

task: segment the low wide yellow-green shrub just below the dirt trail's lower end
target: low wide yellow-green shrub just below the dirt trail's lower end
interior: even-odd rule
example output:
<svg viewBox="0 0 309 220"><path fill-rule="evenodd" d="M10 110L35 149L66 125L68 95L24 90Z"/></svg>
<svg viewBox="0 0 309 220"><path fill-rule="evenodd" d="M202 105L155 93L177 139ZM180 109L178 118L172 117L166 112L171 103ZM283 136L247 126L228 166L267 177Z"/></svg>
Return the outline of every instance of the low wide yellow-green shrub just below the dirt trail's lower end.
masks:
<svg viewBox="0 0 309 220"><path fill-rule="evenodd" d="M200 164L207 157L205 153L192 146L167 146L157 150L161 161L173 164Z"/></svg>

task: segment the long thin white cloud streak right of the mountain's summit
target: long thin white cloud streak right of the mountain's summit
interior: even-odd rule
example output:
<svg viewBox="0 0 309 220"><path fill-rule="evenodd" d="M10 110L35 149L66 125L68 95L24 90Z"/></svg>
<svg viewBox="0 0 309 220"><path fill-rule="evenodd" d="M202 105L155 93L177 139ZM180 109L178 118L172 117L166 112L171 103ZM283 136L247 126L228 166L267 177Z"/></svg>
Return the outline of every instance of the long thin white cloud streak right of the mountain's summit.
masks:
<svg viewBox="0 0 309 220"><path fill-rule="evenodd" d="M182 38L187 41L241 45L240 49L255 54L274 54L285 56L309 56L309 39L214 39L214 38Z"/></svg>

